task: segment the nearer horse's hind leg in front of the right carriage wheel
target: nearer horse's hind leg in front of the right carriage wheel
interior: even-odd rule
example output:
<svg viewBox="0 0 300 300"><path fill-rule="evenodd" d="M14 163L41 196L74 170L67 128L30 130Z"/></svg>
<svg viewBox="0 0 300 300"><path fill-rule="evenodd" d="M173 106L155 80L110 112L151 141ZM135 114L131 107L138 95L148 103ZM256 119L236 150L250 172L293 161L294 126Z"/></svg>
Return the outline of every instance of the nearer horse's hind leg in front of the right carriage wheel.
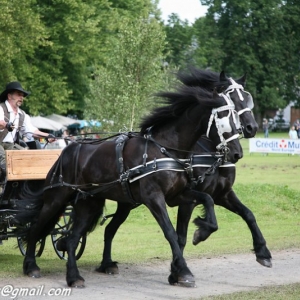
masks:
<svg viewBox="0 0 300 300"><path fill-rule="evenodd" d="M84 278L80 276L76 263L76 249L80 238L92 231L99 220L104 207L105 199L89 197L79 200L74 205L75 215L71 234L64 240L61 247L68 253L67 275L68 286L84 287Z"/></svg>

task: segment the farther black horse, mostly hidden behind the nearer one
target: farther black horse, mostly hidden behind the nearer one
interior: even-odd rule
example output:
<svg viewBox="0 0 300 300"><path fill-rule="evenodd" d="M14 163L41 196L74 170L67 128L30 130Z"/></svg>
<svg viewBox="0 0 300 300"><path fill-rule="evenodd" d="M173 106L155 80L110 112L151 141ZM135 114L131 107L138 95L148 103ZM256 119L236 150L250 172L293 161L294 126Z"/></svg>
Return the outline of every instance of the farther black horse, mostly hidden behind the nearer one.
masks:
<svg viewBox="0 0 300 300"><path fill-rule="evenodd" d="M258 126L254 124L247 125L247 120L244 119L245 114L249 113L254 107L252 96L244 91L246 77L243 76L240 79L234 81L232 78L228 78L224 72L219 74L212 71L204 71L196 68L191 69L191 74L181 73L179 74L180 80L188 86L201 86L208 90L221 88L225 90L227 96L234 97L232 94L236 90L238 98L241 101L234 101L237 113L240 115L241 123L243 126L243 134L246 138L251 138L255 135ZM250 112L251 113L251 112ZM257 125L257 124L256 124ZM195 153L214 151L214 146L207 140L201 138L196 146ZM205 168L197 168L195 172L196 176L201 177L205 174ZM243 205L236 194L234 193L232 186L235 180L235 166L221 167L216 169L214 176L206 177L207 179L198 185L197 190L206 192L212 196L215 204L223 206L228 210L238 214L247 223L253 239L253 248L256 255L256 260L265 267L272 267L271 253L266 246L266 241L256 223L256 219L245 205ZM195 205L194 205L195 207ZM193 211L193 205L190 207L179 206L178 219L177 219L177 234L179 236L179 244L183 251L186 244L186 234L188 222ZM195 224L200 222L200 219L194 220ZM202 241L202 234L197 230L194 234L194 244L198 244Z"/></svg>

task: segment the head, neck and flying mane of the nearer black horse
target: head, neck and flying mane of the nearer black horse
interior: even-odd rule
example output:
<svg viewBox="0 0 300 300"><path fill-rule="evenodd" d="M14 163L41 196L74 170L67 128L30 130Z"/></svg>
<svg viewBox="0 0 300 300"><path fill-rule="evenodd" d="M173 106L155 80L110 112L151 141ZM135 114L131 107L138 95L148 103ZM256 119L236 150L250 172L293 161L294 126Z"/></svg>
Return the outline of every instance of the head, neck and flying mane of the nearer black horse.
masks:
<svg viewBox="0 0 300 300"><path fill-rule="evenodd" d="M142 133L151 127L152 134L157 134L156 138L160 138L163 133L162 137L166 139L166 127L170 124L174 127L175 122L175 131L183 134L173 139L178 144L172 147L190 149L199 136L205 134L212 140L216 151L228 153L230 161L236 162L242 158L243 151L238 141L240 121L227 95L185 84L178 86L175 92L161 92L157 95L165 105L144 118ZM170 134L173 135L173 132Z"/></svg>

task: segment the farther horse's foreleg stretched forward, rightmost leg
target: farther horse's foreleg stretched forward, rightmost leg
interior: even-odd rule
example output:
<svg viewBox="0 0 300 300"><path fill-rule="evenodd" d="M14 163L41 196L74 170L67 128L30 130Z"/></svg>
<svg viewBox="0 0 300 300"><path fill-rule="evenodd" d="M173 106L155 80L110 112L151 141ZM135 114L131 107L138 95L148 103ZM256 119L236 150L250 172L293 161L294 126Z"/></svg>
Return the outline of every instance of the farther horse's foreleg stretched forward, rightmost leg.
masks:
<svg viewBox="0 0 300 300"><path fill-rule="evenodd" d="M271 253L267 248L266 240L256 223L256 219L252 211L241 203L233 190L231 190L226 197L215 199L215 201L217 205L221 205L243 218L252 234L253 247L257 262L264 267L272 267Z"/></svg>

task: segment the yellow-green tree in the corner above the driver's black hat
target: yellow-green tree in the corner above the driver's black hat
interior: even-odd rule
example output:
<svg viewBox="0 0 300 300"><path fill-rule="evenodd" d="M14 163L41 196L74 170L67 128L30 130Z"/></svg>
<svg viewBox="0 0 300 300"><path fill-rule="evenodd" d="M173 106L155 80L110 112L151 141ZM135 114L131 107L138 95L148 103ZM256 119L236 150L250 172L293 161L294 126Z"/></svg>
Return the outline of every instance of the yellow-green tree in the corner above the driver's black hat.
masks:
<svg viewBox="0 0 300 300"><path fill-rule="evenodd" d="M35 0L0 0L0 82L19 80L26 89L31 89L31 60L35 50L47 43L46 28L32 6Z"/></svg>

